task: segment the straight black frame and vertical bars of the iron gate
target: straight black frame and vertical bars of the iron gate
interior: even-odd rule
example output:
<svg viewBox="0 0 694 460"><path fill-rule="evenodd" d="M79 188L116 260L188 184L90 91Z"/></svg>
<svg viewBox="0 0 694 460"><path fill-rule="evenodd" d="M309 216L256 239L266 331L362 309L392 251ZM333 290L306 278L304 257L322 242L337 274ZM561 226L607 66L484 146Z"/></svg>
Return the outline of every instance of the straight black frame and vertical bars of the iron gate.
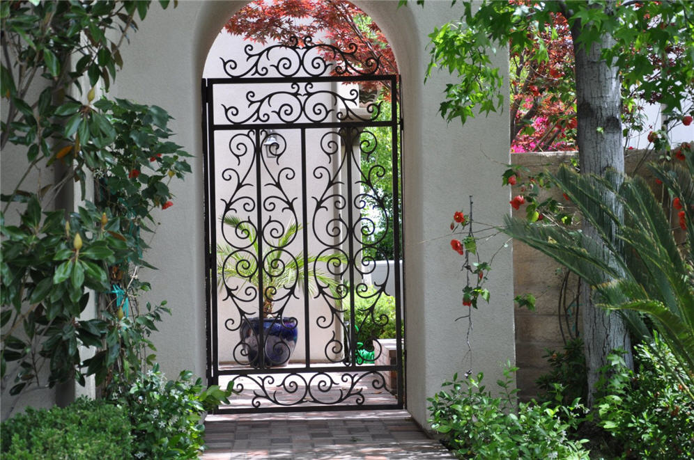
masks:
<svg viewBox="0 0 694 460"><path fill-rule="evenodd" d="M304 38L304 45L299 46L298 40L295 40L295 45L272 45L271 47L287 47L295 50L302 50L307 52L308 50L314 48L330 48L337 53L341 54L343 57L345 54L350 55L350 51L339 50L332 45L318 44L313 45L310 38ZM249 56L249 48L245 49L247 56ZM261 51L262 53L263 51ZM260 54L260 53L259 53ZM353 54L353 50L352 53ZM222 59L224 62L224 59ZM225 63L226 65L226 63ZM344 69L348 67L348 63L344 65ZM351 67L351 66L350 66ZM378 69L378 63L373 72ZM225 70L226 72L226 70ZM226 72L229 74L229 72ZM390 120L357 120L357 121L345 121L337 120L331 122L241 122L238 125L233 123L219 124L215 123L214 116L214 97L213 92L215 85L254 85L254 84L318 84L318 83L330 83L330 84L340 84L340 83L350 83L350 82L362 82L362 81L375 81L381 82L383 84L390 85L391 95L392 95L392 106L390 113ZM203 78L201 80L201 102L202 102L202 112L201 112L201 128L203 132L203 176L204 176L204 194L205 194L205 290L206 290L206 377L208 385L218 385L219 377L225 375L231 376L248 376L248 375L272 375L272 374L304 374L307 372L315 372L318 374L328 373L328 372L339 372L344 374L346 372L374 372L378 373L382 378L385 379L384 373L396 372L397 379L397 393L396 393L396 404L363 404L362 402L357 402L355 404L338 404L335 403L320 403L316 401L314 406L302 406L300 403L298 405L284 406L273 404L272 406L256 406L250 408L234 408L234 409L220 409L217 407L215 413L252 413L252 412L300 412L300 411L353 411L353 410L364 410L364 409L403 409L405 407L405 383L404 383L404 365L403 358L405 354L404 349L404 286L401 284L401 270L404 271L404 261L403 267L399 264L399 260L404 260L403 248L401 247L403 225L403 216L401 216L399 206L401 203L401 168L398 167L401 164L401 142L402 142L402 131L403 131L403 117L401 114L401 85L400 76L397 74L369 74L360 73L357 75L324 75L324 76L307 76L307 77L246 77L245 74L239 77L229 77L229 78ZM228 117L227 117L228 118ZM215 285L213 281L217 277L217 259L215 248L217 246L217 235L215 230L215 223L217 222L216 215L214 213L215 209L215 198L217 198L215 193L215 133L223 131L246 131L253 132L256 142L254 149L254 168L260 170L261 168L261 156L263 154L263 145L259 142L261 133L277 131L279 129L291 129L298 130L301 133L302 138L302 148L301 148L301 209L302 209L302 219L304 224L304 231L302 232L302 239L304 248L307 248L307 144L305 142L306 134L308 129L366 129L369 127L390 127L391 128L391 147L392 147L392 185L393 185L393 205L390 211L392 212L392 222L393 222L393 237L394 237L394 297L395 297L395 313L396 313L396 364L394 365L360 365L355 359L356 347L350 346L350 360L348 365L343 366L333 366L333 365L311 365L311 353L309 348L309 326L311 316L309 315L309 296L306 295L308 292L304 293L304 328L306 328L305 335L307 338L307 354L305 358L305 363L303 367L265 367L262 362L263 355L265 351L264 347L260 347L261 354L261 364L260 367L254 367L249 365L247 369L234 369L234 370L222 370L219 364L219 310L218 310L218 299L215 290ZM347 168L348 175L350 175L350 168ZM258 172L258 175L260 173ZM350 182L351 184L352 182ZM350 185L351 187L351 185ZM263 221L261 219L261 184L257 184L257 206L258 206L258 216L259 225L257 238L262 240L263 237ZM350 195L350 193L347 193ZM353 205L349 205L349 213L351 214ZM350 223L353 219L348 218ZM352 245L353 239L348 236L350 247ZM262 248L262 246L261 246ZM262 249L259 251L262 253ZM355 270L355 252L350 248L349 251L350 261L348 262L348 267L350 271L350 279L354 279ZM304 257L308 257L304 255ZM261 264L258 265L258 269L262 269ZM305 269L305 268L304 268ZM390 274L390 270L389 270ZM304 290L307 291L308 283ZM349 315L350 315L350 344L356 344L356 332L354 327L354 315L355 315L355 287L353 283L350 283L350 305L349 305ZM263 296L260 293L261 288L259 288L258 301L259 301L259 315L261 315L263 308ZM259 328L260 340L263 342L263 327ZM383 351L382 351L383 352ZM305 379L304 379L305 381ZM309 382L306 383L307 386ZM385 390L385 388L383 388ZM348 395L346 398L354 397L357 393ZM358 400L358 399L357 399Z"/></svg>

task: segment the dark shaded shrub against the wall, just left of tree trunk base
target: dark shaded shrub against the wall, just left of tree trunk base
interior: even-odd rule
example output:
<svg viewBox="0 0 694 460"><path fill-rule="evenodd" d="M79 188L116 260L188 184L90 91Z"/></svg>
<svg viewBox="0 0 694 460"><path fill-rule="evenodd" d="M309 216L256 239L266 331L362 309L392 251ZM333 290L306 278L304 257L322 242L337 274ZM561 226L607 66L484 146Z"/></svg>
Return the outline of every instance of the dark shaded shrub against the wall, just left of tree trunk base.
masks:
<svg viewBox="0 0 694 460"><path fill-rule="evenodd" d="M569 404L576 398L586 399L588 395L587 367L583 351L583 340L569 340L564 351L547 350L543 356L551 367L548 374L539 376L536 383L541 393L539 399Z"/></svg>

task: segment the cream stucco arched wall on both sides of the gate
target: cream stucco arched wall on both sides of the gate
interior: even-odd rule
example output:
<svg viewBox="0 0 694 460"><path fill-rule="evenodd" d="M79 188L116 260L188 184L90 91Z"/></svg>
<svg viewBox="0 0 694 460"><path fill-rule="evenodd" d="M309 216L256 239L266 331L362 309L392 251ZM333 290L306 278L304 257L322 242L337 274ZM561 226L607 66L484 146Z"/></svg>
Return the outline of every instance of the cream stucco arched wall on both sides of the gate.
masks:
<svg viewBox="0 0 694 460"><path fill-rule="evenodd" d="M153 5L141 29L123 49L125 68L114 93L157 104L176 118L176 142L195 155L193 174L173 185L173 207L157 214L149 260L159 271L151 280L149 301L167 299L173 317L164 319L155 337L157 356L169 376L181 369L204 375L205 295L203 275L203 170L201 158L200 79L208 49L228 17L245 3L180 2L162 11ZM403 78L404 246L406 293L406 369L408 410L426 424L426 397L463 370L464 325L461 315L461 259L450 250L448 225L455 210L475 196L475 218L500 223L509 209L509 191L500 184L509 162L507 112L479 117L465 127L447 126L437 113L447 76L435 74L424 86L429 62L426 35L452 17L448 1L396 8L397 1L355 1L383 29L394 48ZM507 68L507 56L496 63ZM481 244L491 256L504 242ZM475 372L494 382L500 365L514 361L511 251L496 255L488 287L491 304L473 312Z"/></svg>

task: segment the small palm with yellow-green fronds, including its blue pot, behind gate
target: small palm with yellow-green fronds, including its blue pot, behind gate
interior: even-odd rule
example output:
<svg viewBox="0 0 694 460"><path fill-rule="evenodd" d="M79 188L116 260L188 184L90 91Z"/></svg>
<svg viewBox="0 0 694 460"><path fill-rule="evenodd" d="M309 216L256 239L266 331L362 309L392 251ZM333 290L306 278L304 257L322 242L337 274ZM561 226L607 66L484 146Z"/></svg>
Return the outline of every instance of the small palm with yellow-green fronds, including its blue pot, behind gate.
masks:
<svg viewBox="0 0 694 460"><path fill-rule="evenodd" d="M275 312L275 296L281 290L304 292L308 286L309 294L315 296L318 285L327 287L334 299L338 281L329 273L321 271L318 264L346 263L344 255L326 254L321 256L308 255L300 252L295 257L286 251L287 246L294 240L295 235L302 230L302 225L291 222L286 225L282 235L275 241L266 242L263 253L259 251L259 238L249 221L242 221L238 216L224 216L224 225L234 231L234 235L247 241L242 250L229 244L217 244L217 275L219 290L222 290L225 280L236 278L241 281L240 287L250 284L256 287L256 292L263 296L261 317L247 317L242 312L239 328L243 355L247 356L249 364L261 366L259 342L265 344L263 367L279 367L288 363L298 339L298 320L295 317L285 317L284 308ZM260 267L259 267L260 262ZM307 266L307 269L304 267ZM262 285L262 292L261 292ZM263 333L261 337L261 324Z"/></svg>

